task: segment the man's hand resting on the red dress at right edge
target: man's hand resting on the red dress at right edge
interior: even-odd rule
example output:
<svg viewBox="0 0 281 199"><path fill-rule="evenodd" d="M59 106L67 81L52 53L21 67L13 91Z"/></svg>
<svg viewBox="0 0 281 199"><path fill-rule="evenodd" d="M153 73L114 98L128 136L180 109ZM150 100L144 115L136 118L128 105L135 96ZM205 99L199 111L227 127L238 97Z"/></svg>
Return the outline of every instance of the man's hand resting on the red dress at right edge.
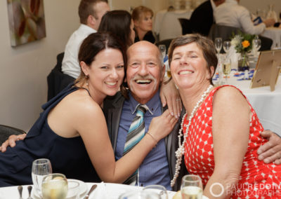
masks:
<svg viewBox="0 0 281 199"><path fill-rule="evenodd" d="M281 138L275 135L275 133L270 130L261 132L261 136L268 139L268 142L259 147L259 160L263 160L264 163L275 163L276 165L280 165Z"/></svg>

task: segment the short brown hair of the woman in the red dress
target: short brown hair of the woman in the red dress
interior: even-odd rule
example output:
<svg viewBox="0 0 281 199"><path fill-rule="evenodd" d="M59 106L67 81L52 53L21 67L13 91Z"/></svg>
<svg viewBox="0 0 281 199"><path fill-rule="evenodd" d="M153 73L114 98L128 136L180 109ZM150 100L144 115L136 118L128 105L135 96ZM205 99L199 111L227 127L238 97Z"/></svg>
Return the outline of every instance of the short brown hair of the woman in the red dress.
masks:
<svg viewBox="0 0 281 199"><path fill-rule="evenodd" d="M172 56L174 50L178 46L184 46L188 43L196 43L197 46L202 50L204 59L207 62L207 69L211 73L211 67L214 67L214 71L216 71L216 65L218 64L218 57L216 57L216 48L214 46L213 41L208 39L206 36L202 36L201 34L185 34L183 36L178 36L176 39L171 41L169 47L169 64L171 65ZM214 74L213 74L214 76ZM210 83L213 85L213 82L210 79Z"/></svg>

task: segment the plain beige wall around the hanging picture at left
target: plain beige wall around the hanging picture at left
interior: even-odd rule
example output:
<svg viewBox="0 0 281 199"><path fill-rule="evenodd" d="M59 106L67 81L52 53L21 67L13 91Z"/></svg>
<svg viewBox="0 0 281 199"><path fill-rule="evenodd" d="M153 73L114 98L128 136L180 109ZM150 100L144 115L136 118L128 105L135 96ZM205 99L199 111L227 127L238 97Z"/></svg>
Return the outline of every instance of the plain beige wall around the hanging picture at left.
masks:
<svg viewBox="0 0 281 199"><path fill-rule="evenodd" d="M79 27L78 0L46 0L46 38L10 44L6 0L0 1L0 124L28 130L47 99L46 76Z"/></svg>

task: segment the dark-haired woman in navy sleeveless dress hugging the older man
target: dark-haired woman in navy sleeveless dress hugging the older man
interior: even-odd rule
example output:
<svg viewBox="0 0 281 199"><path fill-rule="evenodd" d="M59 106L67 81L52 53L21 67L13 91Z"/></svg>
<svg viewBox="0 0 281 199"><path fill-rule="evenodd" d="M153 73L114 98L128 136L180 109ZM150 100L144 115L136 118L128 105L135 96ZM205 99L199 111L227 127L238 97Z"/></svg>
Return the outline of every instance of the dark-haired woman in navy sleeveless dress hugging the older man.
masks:
<svg viewBox="0 0 281 199"><path fill-rule="evenodd" d="M123 83L125 49L112 34L93 33L81 43L78 57L81 74L74 85L44 104L24 140L0 153L0 186L32 184L32 162L37 158L48 158L53 172L67 178L122 183L171 132L177 119L165 111L115 162L101 106Z"/></svg>

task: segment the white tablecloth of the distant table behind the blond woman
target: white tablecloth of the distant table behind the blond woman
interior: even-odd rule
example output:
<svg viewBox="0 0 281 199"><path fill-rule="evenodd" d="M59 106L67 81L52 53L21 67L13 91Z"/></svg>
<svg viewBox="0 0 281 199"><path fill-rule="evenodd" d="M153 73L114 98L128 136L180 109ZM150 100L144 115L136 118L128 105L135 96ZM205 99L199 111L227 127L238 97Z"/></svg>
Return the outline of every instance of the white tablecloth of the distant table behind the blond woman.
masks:
<svg viewBox="0 0 281 199"><path fill-rule="evenodd" d="M153 32L159 34L160 41L163 39L174 39L182 33L181 24L178 21L178 18L189 19L191 14L192 11L190 10L159 11L155 15Z"/></svg>

